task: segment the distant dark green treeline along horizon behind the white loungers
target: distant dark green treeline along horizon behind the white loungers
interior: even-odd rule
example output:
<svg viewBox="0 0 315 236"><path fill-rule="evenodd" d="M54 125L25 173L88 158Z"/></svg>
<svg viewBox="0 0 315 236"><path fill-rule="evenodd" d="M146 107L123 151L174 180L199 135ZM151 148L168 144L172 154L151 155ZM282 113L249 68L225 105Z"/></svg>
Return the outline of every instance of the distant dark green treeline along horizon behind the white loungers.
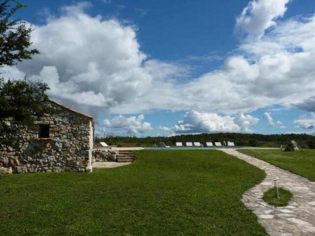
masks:
<svg viewBox="0 0 315 236"><path fill-rule="evenodd" d="M203 133L203 134L182 134L172 137L145 137L136 136L116 136L106 134L104 137L96 137L95 144L106 142L108 145L118 147L155 147L163 142L169 146L175 146L176 142L200 142L205 145L206 142L231 141L236 146L249 147L280 147L287 145L291 140L295 140L299 147L308 148L307 143L314 140L315 137L307 134L248 134L248 133Z"/></svg>

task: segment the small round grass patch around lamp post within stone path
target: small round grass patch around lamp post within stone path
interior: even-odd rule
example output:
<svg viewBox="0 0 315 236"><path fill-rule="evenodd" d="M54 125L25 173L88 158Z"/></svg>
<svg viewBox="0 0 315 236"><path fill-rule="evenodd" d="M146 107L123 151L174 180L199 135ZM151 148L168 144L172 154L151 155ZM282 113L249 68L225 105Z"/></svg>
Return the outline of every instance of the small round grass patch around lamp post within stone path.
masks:
<svg viewBox="0 0 315 236"><path fill-rule="evenodd" d="M264 193L264 201L273 206L286 206L293 197L290 191L278 188L279 197L275 198L275 189L270 188Z"/></svg>

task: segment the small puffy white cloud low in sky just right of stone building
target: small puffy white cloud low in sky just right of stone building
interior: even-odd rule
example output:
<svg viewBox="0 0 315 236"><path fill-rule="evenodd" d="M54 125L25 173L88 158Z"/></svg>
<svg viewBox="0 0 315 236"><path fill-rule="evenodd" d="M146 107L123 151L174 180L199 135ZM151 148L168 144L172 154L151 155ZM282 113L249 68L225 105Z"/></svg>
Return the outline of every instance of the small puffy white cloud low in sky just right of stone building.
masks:
<svg viewBox="0 0 315 236"><path fill-rule="evenodd" d="M126 131L127 133L136 134L138 132L145 133L153 130L151 124L148 122L143 122L144 115L141 114L138 117L131 116L125 117L123 115L118 115L113 117L111 120L104 120L104 126L107 128L115 128Z"/></svg>

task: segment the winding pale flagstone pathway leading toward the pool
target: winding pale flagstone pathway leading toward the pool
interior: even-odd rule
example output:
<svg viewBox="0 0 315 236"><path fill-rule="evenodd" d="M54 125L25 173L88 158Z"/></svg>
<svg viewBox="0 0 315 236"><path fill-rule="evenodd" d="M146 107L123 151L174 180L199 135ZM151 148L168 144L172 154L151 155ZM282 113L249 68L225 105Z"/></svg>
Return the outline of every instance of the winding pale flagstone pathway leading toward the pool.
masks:
<svg viewBox="0 0 315 236"><path fill-rule="evenodd" d="M258 216L270 236L315 235L315 182L235 149L221 150L266 171L264 181L246 191L242 201ZM279 187L293 194L285 207L271 206L262 199L263 193L273 187L274 178L278 178Z"/></svg>

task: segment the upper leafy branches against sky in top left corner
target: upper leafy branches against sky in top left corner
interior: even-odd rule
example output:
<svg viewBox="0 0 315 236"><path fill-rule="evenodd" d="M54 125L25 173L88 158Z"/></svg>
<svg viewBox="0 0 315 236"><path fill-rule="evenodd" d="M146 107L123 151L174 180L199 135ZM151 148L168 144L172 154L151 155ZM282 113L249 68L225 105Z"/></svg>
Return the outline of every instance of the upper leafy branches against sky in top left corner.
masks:
<svg viewBox="0 0 315 236"><path fill-rule="evenodd" d="M14 6L11 7L10 3ZM13 66L18 61L31 59L32 55L39 53L37 49L28 50L32 44L32 28L26 27L26 22L13 17L23 7L26 5L15 0L2 0L0 3L0 66Z"/></svg>

